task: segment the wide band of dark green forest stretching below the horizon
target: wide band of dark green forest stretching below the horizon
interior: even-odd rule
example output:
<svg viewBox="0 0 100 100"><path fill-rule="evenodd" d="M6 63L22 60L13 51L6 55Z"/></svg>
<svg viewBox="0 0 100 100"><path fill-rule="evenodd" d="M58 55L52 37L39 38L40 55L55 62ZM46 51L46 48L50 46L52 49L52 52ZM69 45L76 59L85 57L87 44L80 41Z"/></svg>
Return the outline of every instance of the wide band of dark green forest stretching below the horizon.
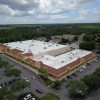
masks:
<svg viewBox="0 0 100 100"><path fill-rule="evenodd" d="M82 27L81 27L82 26ZM83 28L83 26L86 28ZM98 28L88 28L98 27ZM82 33L100 33L100 24L44 24L44 25L8 25L0 29L0 43L22 41L35 37L51 37L54 35ZM37 31L39 29L39 31ZM9 35L10 34L10 35ZM5 38L4 38L5 37Z"/></svg>

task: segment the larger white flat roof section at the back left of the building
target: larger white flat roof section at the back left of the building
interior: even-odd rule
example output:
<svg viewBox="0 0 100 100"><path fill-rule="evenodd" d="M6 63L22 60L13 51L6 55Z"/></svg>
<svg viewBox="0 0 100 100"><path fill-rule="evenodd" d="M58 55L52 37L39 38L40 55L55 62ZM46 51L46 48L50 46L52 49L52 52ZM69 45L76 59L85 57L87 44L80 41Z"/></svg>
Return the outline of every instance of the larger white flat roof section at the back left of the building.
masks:
<svg viewBox="0 0 100 100"><path fill-rule="evenodd" d="M60 45L56 43L43 42L38 40L10 42L10 43L4 43L4 45L11 47L11 49L16 48L18 50L21 50L23 51L23 53L31 52L33 54L39 54L67 46L67 45Z"/></svg>

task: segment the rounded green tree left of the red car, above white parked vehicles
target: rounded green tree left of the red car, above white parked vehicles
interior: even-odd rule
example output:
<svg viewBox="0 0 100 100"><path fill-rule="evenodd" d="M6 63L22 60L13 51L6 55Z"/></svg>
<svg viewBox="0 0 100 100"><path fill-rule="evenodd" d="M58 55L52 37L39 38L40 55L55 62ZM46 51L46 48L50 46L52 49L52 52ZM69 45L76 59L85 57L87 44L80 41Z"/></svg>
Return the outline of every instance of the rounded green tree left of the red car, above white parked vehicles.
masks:
<svg viewBox="0 0 100 100"><path fill-rule="evenodd" d="M31 84L25 80L17 79L11 86L11 90L14 92L20 92L23 93L24 89L27 87L30 87Z"/></svg>

